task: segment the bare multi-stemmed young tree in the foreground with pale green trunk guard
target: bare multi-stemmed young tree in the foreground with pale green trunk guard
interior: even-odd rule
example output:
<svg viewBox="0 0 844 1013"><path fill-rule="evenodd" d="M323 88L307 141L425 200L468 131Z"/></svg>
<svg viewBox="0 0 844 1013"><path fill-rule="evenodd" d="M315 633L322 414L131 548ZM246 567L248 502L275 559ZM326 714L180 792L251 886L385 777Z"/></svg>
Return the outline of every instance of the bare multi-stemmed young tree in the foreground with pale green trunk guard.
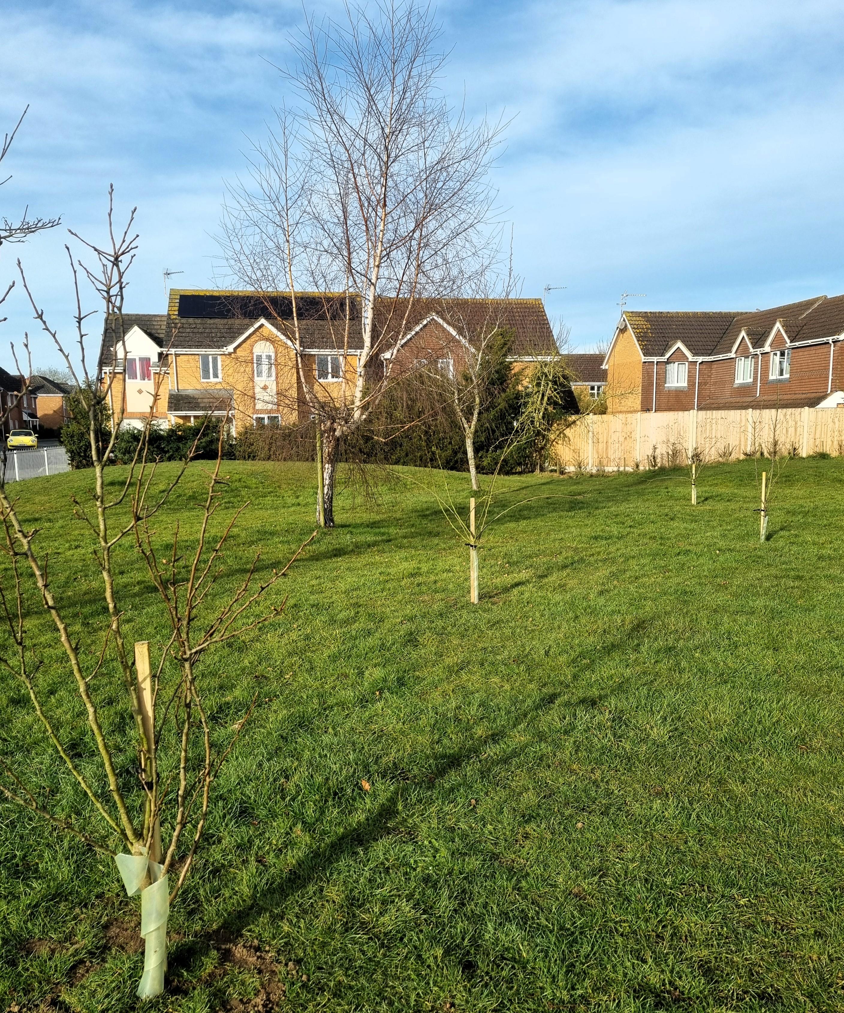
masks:
<svg viewBox="0 0 844 1013"><path fill-rule="evenodd" d="M84 845L115 857L126 891L141 894L141 928L147 954L138 994L148 997L164 989L169 907L192 868L221 765L255 702L253 699L234 731L227 734L208 705L197 669L208 650L277 615L283 603L263 611L258 611L257 605L292 560L283 568L266 572L259 565L258 555L247 567L245 577L233 587L227 583L223 553L245 505L222 525L216 520L226 484L221 476L224 426L220 428L217 464L197 511L196 535L185 535L180 528L184 506L180 506L166 535L151 526L166 523L166 508L193 456L192 451L188 453L174 474L163 477L158 473L157 463L149 460L153 406L143 439L116 488L106 481L105 469L122 414L118 407L114 425L103 438L102 409L114 381L114 372L104 369L104 359L120 350L125 354L123 294L137 238L132 231L134 211L124 230L114 229L111 197L109 191L108 242L97 246L81 240L93 255L94 265L87 267L74 260L68 248L76 289L79 370L74 368L58 331L38 309L18 261L35 318L64 357L88 414L93 462L90 499L77 498L74 504L76 517L92 536L102 590L101 633L95 623L77 625L72 618L74 610L60 601L53 579L56 554L50 554L50 546L41 546L38 529L24 525L18 501L0 476L0 553L5 557L0 569L0 627L5 625L5 635L0 638L0 666L24 687L25 698L48 742L84 797L79 798L72 816L57 813L47 792L32 783L31 773L21 770L19 757L14 756L0 757L0 794L6 801L38 813ZM94 369L86 357L85 321L90 314L82 308L80 278L93 286L105 313L106 330L117 337L113 344L110 339L101 343ZM117 401L118 406L121 401ZM114 554L128 539L135 543L146 563L152 590L164 605L167 632L160 638L156 666L151 663L146 638L137 640L133 648L126 610L120 605ZM59 560L61 565L61 554ZM35 653L37 643L30 636L30 625L37 621L38 611L49 616L61 643L64 673L76 691L80 717L87 725L86 752L93 753L99 764L96 773L90 765L80 763L78 748L63 741L58 722L51 716L50 699L38 674L41 663ZM52 678L55 675L54 671ZM134 726L129 742L120 742L113 731L108 731L121 722L105 719L106 712L115 706L114 700L119 699L120 686L122 703ZM133 747L137 749L135 784L120 773L125 753ZM175 879L172 887L170 875Z"/></svg>

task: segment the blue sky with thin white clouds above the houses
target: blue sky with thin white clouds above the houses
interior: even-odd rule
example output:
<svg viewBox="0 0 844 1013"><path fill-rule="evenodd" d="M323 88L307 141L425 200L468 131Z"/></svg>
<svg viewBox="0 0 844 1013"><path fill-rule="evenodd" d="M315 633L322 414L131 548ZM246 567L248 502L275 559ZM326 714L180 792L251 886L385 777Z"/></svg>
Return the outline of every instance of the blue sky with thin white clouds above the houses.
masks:
<svg viewBox="0 0 844 1013"><path fill-rule="evenodd" d="M451 0L438 15L446 92L515 116L495 182L516 269L526 296L566 286L546 305L575 345L611 336L624 289L650 309L844 292L840 0ZM209 285L224 180L284 97L270 62L302 16L278 0L5 0L0 132L30 111L0 216L28 204L100 238L113 182L120 211L138 206L128 309L163 311L165 267ZM3 246L0 282L21 256L71 336L66 239ZM35 364L58 364L21 296L0 364L24 329Z"/></svg>

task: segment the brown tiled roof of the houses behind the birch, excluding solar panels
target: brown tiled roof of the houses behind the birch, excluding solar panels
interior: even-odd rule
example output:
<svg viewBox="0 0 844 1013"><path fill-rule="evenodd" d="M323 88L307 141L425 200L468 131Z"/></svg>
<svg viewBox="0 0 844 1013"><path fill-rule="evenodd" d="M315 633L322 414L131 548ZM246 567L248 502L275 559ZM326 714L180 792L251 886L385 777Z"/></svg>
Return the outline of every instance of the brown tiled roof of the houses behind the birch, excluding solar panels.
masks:
<svg viewBox="0 0 844 1013"><path fill-rule="evenodd" d="M397 299L378 301L375 322L379 338L377 350L386 350L395 343L395 334L401 327L405 313L408 310L408 300ZM512 329L514 339L510 352L513 356L547 355L557 350L554 333L548 324L542 303L538 299L508 299L508 300L437 300L416 299L410 308L407 329L421 323L431 313L436 313L446 323L451 323L455 329L481 328L491 320L497 326ZM269 315L268 315L269 316ZM279 332L286 333L292 340L292 321L266 319ZM233 344L246 333L261 317L182 317L156 313L126 313L123 315L123 332L129 333L132 327L140 327L160 348L170 347L184 350L223 350ZM362 347L359 320L352 321L346 339L342 320L300 320L300 333L304 347L308 349L338 349L343 348L348 340L351 352ZM470 336L470 335L466 335ZM106 343L106 366L111 365L110 349L114 337L109 324L103 332Z"/></svg>

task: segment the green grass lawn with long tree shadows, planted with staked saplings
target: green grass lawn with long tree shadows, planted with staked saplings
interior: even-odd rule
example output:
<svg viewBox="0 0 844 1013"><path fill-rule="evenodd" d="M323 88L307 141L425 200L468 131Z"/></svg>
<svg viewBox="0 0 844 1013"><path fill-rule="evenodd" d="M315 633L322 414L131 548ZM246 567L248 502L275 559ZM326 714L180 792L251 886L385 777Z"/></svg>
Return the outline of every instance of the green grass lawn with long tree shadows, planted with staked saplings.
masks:
<svg viewBox="0 0 844 1013"><path fill-rule="evenodd" d="M227 471L227 504L251 500L234 576L253 549L285 561L311 468ZM201 478L174 500L187 531ZM69 505L85 481L19 492L88 644L102 608ZM480 606L467 549L400 482L375 506L341 493L284 616L208 656L224 728L261 703L171 915L171 993L145 1009L268 1009L249 1002L276 967L290 1011L844 1009L844 461L788 465L764 545L752 462L705 469L697 508L682 472L502 488L550 498L490 532ZM130 635L160 644L129 548L119 569ZM90 756L33 621L52 712ZM86 813L8 676L0 699L3 754ZM135 1009L142 957L109 940L138 906L114 863L7 804L0 863L0 997ZM264 970L226 962L226 939Z"/></svg>

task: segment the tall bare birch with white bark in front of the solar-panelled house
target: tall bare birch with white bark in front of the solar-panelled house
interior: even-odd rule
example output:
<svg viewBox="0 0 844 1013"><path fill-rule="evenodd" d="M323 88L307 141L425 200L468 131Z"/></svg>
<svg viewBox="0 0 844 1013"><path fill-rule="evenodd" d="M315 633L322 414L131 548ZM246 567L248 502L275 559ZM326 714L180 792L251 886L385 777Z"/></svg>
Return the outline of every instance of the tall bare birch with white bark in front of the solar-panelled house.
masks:
<svg viewBox="0 0 844 1013"><path fill-rule="evenodd" d="M277 111L248 180L229 187L220 238L229 276L267 295L294 352L331 527L338 443L391 383L416 299L454 294L488 266L503 125L472 126L439 93L440 29L416 0L347 6L342 24L309 18L293 51L284 75L299 107ZM307 290L323 294L316 309ZM336 382L315 377L315 345L341 364Z"/></svg>

